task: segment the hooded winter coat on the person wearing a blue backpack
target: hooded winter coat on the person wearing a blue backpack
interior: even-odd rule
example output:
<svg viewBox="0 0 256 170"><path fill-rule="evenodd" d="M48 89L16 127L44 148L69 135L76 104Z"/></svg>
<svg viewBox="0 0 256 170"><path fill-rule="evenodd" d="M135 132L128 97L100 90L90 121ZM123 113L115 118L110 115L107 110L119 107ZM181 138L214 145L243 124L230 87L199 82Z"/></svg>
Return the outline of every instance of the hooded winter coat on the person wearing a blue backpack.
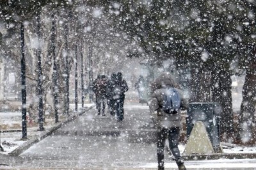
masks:
<svg viewBox="0 0 256 170"><path fill-rule="evenodd" d="M156 81L154 81L154 91L152 91L152 98L149 102L150 111L152 114L157 111L157 127L172 128L181 126L180 112L177 114L166 114L163 111L161 105L164 101L164 90L168 87L175 88L181 98L180 107L186 109L188 107L188 101L183 97L182 91L177 89L177 85L172 79L170 73L162 73Z"/></svg>

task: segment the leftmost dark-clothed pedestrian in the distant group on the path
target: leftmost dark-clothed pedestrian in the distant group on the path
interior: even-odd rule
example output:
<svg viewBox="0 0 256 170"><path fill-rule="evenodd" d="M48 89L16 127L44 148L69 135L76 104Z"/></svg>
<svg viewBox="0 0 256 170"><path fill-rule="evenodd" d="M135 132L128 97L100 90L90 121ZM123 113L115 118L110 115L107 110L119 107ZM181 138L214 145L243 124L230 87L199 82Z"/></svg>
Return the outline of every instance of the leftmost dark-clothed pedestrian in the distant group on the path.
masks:
<svg viewBox="0 0 256 170"><path fill-rule="evenodd" d="M95 80L95 82L93 82L93 91L96 96L98 114L100 115L100 111L102 111L102 116L105 116L107 83L108 79L106 75L101 75L98 79Z"/></svg>

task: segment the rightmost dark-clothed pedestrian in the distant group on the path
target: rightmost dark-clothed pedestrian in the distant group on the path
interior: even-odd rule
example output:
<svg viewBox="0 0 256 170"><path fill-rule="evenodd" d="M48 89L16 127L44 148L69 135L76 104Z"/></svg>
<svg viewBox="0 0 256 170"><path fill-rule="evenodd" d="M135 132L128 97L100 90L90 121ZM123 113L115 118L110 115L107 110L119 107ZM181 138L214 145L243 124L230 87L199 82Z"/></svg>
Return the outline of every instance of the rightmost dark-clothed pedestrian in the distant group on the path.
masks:
<svg viewBox="0 0 256 170"><path fill-rule="evenodd" d="M125 92L128 91L127 82L122 78L122 73L116 73L116 77L113 81L112 95L113 95L113 109L114 114L117 116L118 121L124 120L124 100Z"/></svg>

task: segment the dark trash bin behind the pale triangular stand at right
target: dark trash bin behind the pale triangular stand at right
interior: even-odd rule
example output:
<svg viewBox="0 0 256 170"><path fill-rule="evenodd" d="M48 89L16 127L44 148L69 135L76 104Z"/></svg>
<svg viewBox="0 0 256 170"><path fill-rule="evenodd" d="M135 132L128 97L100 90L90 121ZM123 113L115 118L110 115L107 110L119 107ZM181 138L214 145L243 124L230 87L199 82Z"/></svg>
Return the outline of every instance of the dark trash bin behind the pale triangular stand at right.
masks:
<svg viewBox="0 0 256 170"><path fill-rule="evenodd" d="M220 104L216 102L202 102L189 104L186 125L187 137L192 131L196 121L202 121L205 125L207 134L212 143L214 150L220 149ZM218 151L216 151L218 152Z"/></svg>

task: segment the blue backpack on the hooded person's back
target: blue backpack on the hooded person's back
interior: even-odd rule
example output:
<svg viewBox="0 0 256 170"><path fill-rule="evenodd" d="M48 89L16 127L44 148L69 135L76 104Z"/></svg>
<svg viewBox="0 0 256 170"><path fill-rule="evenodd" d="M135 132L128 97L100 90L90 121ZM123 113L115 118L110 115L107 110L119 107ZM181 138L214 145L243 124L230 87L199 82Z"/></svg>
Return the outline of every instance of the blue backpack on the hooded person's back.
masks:
<svg viewBox="0 0 256 170"><path fill-rule="evenodd" d="M164 100L162 109L167 114L175 114L180 109L180 95L174 88L166 88L164 91Z"/></svg>

